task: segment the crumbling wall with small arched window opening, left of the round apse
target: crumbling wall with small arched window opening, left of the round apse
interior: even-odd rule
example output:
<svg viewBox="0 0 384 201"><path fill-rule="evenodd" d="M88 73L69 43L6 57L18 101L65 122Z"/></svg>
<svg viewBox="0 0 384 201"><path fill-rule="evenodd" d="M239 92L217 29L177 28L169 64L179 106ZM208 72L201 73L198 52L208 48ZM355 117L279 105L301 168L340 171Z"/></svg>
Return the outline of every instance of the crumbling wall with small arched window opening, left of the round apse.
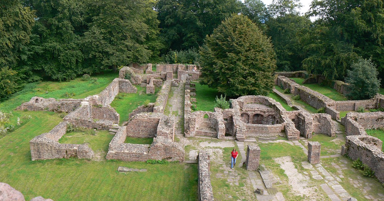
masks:
<svg viewBox="0 0 384 201"><path fill-rule="evenodd" d="M204 118L207 115L208 118ZM223 116L217 112L196 111L189 115L185 137L204 135L209 137L224 138L225 126Z"/></svg>

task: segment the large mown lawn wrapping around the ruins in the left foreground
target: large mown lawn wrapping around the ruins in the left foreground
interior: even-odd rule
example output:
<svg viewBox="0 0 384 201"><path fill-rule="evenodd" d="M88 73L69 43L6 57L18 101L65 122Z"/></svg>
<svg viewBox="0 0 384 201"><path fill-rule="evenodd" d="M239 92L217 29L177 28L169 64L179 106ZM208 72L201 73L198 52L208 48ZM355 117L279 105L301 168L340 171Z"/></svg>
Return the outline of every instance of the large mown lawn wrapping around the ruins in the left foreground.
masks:
<svg viewBox="0 0 384 201"><path fill-rule="evenodd" d="M31 161L29 141L53 129L62 118L47 112L22 112L32 119L0 138L0 181L26 200L197 200L197 165L55 159ZM108 144L108 143L106 143ZM119 166L147 172L119 173Z"/></svg>

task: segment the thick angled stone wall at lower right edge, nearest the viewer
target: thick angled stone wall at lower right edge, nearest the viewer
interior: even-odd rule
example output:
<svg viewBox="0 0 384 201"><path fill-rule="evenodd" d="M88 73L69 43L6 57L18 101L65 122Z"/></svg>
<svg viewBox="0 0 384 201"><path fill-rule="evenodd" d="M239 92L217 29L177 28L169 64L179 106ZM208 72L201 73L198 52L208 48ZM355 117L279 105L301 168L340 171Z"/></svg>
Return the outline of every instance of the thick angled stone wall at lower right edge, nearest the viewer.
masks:
<svg viewBox="0 0 384 201"><path fill-rule="evenodd" d="M347 136L342 154L347 153L353 160L360 160L373 171L377 180L384 183L384 153L381 151L382 141L369 135Z"/></svg>

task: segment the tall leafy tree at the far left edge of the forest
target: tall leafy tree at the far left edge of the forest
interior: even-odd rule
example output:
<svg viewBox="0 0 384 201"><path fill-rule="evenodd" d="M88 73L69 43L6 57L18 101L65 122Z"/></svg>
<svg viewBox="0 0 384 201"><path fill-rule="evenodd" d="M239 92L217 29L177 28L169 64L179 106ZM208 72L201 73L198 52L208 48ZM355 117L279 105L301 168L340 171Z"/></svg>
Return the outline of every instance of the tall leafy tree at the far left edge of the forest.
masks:
<svg viewBox="0 0 384 201"><path fill-rule="evenodd" d="M27 52L35 15L19 1L2 0L0 5L0 98L17 91L30 67L20 67Z"/></svg>

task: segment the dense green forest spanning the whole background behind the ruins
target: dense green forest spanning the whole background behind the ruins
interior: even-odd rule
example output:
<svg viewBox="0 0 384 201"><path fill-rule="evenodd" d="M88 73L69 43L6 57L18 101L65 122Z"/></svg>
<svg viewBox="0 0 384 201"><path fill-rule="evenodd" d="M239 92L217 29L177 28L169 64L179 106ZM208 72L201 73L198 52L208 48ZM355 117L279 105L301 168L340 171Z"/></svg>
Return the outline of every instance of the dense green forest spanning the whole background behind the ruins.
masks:
<svg viewBox="0 0 384 201"><path fill-rule="evenodd" d="M298 0L2 0L0 98L28 82L132 62L199 64L207 36L233 15L246 16L269 38L278 71L344 81L354 61L371 59L384 78L382 0L313 0L307 13L301 6Z"/></svg>

